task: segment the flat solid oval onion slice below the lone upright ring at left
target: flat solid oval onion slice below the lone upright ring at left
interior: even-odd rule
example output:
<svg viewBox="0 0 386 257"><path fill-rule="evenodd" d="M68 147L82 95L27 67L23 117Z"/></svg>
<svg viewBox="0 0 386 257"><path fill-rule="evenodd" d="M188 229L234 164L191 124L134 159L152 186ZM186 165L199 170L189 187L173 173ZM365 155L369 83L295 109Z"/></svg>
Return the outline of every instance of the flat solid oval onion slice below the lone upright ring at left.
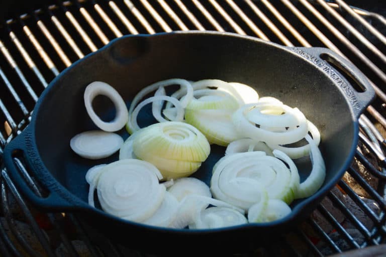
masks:
<svg viewBox="0 0 386 257"><path fill-rule="evenodd" d="M82 132L70 140L70 147L76 154L91 160L111 156L121 148L122 144L121 136L105 131Z"/></svg>

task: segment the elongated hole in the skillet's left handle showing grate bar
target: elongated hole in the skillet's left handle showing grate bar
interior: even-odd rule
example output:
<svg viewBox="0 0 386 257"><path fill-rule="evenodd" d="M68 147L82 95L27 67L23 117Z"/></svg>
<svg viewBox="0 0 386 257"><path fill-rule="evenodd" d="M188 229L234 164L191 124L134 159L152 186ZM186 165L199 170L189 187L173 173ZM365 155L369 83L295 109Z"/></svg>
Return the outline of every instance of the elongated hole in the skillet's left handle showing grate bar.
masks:
<svg viewBox="0 0 386 257"><path fill-rule="evenodd" d="M28 187L36 196L46 198L49 196L49 191L45 188L32 173L32 168L28 162L26 162L25 153L22 150L15 150L12 153L12 160L16 169L27 183Z"/></svg>

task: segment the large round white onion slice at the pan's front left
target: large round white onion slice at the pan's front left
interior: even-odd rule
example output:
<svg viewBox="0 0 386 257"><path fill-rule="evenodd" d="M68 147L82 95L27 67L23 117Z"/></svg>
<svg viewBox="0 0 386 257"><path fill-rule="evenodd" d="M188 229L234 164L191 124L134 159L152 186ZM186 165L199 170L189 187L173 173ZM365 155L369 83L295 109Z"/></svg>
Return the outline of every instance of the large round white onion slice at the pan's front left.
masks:
<svg viewBox="0 0 386 257"><path fill-rule="evenodd" d="M106 165L94 178L102 209L115 216L142 222L160 207L166 188L161 173L150 163L126 159Z"/></svg>

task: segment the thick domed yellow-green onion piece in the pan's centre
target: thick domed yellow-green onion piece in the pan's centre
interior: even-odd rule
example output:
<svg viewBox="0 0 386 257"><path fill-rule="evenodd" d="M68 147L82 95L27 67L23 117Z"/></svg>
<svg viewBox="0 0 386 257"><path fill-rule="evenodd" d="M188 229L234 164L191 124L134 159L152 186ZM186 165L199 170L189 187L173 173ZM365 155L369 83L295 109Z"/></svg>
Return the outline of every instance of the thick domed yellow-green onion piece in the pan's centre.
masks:
<svg viewBox="0 0 386 257"><path fill-rule="evenodd" d="M168 121L143 128L134 139L133 150L138 158L154 164L166 179L175 179L196 172L211 148L196 127Z"/></svg>

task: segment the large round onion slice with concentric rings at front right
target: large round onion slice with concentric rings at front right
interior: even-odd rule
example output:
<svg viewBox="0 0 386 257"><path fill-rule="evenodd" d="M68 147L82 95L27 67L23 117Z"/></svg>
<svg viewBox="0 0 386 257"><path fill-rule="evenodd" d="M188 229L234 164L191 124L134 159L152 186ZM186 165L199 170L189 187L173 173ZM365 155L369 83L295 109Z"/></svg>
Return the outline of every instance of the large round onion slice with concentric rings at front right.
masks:
<svg viewBox="0 0 386 257"><path fill-rule="evenodd" d="M293 176L297 173L293 175L283 162L264 152L235 153L223 157L214 166L211 191L216 199L248 210L264 201L265 194L270 199L291 202Z"/></svg>

